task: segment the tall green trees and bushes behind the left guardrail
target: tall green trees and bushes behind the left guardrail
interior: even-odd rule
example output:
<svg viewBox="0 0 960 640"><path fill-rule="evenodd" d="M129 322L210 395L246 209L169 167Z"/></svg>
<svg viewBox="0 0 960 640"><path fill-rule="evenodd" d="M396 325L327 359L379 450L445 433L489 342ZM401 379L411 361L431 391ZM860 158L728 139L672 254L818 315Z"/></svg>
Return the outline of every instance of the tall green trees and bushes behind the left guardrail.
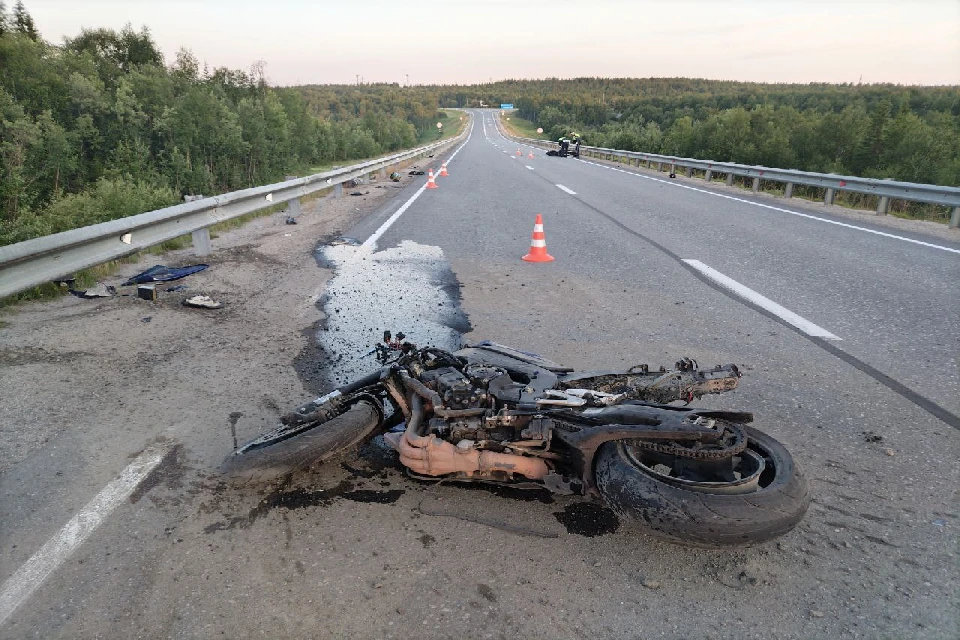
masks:
<svg viewBox="0 0 960 640"><path fill-rule="evenodd" d="M250 71L166 66L150 32L44 41L0 0L0 245L414 146L437 101L388 108L376 89L308 103ZM435 132L436 129L434 128Z"/></svg>

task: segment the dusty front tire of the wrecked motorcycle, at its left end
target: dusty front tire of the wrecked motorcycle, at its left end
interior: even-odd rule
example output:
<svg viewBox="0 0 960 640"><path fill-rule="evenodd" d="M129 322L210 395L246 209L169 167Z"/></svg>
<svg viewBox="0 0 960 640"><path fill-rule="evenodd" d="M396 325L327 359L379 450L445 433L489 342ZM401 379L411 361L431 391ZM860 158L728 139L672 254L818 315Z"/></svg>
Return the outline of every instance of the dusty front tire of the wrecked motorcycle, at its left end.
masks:
<svg viewBox="0 0 960 640"><path fill-rule="evenodd" d="M376 407L360 401L344 413L292 437L267 440L256 449L231 454L220 472L233 481L269 482L360 444L376 430L381 419Z"/></svg>

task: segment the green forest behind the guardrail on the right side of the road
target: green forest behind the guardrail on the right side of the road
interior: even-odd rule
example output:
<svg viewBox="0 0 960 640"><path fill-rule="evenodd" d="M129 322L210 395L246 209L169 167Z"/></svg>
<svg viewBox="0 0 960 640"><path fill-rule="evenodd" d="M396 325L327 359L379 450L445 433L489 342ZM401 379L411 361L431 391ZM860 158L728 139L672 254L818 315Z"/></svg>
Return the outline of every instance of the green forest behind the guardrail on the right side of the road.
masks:
<svg viewBox="0 0 960 640"><path fill-rule="evenodd" d="M512 103L556 139L721 162L960 186L960 87L686 78L511 80L441 88Z"/></svg>

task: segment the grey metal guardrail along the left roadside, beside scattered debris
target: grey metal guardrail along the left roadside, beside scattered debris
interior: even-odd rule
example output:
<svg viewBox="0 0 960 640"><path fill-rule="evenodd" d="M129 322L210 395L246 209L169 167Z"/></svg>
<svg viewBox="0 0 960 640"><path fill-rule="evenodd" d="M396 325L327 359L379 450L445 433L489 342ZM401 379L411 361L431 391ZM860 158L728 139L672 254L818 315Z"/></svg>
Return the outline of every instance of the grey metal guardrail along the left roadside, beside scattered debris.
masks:
<svg viewBox="0 0 960 640"><path fill-rule="evenodd" d="M442 151L468 131L469 126L455 138L305 178L231 191L0 247L0 298L187 233L193 234L196 253L207 255L212 250L209 227L218 222L281 203L290 203L290 212L298 213L303 196L333 188L339 197L348 180Z"/></svg>

